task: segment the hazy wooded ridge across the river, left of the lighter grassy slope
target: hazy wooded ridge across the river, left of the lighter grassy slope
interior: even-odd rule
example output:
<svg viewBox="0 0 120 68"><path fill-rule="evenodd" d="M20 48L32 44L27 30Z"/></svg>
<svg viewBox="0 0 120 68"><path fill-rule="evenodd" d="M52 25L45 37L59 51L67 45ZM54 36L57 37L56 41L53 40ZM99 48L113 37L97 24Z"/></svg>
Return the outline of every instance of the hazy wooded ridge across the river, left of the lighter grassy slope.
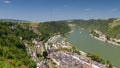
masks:
<svg viewBox="0 0 120 68"><path fill-rule="evenodd" d="M57 22L65 22L67 24L73 24L75 27L78 28L86 28L86 29L101 29L102 27L108 27L109 23L113 23L116 20L115 18L110 19L90 19L90 20L83 20L83 19L76 19L76 20L64 20L64 21L57 21Z"/></svg>

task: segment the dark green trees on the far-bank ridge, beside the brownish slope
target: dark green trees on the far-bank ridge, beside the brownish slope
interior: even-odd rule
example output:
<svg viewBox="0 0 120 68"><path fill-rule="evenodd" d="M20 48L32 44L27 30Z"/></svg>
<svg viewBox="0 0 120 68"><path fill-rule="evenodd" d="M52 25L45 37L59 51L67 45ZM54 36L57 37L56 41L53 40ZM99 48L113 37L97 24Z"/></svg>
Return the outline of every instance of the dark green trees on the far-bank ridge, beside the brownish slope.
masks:
<svg viewBox="0 0 120 68"><path fill-rule="evenodd" d="M86 29L98 29L104 31L109 23L113 22L113 18L108 20L103 19L90 19L90 20L73 20L70 23L76 24L75 27L86 28Z"/></svg>

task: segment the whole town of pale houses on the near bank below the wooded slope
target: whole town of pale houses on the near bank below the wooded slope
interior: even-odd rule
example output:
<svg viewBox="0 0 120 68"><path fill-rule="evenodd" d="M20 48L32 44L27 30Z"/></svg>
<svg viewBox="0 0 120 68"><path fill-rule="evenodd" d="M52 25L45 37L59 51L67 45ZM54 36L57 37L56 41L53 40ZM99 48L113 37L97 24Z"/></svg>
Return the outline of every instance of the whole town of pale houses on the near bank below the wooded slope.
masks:
<svg viewBox="0 0 120 68"><path fill-rule="evenodd" d="M46 64L50 64L50 62L48 62L50 59L54 62L56 68L107 68L105 65L86 57L86 53L83 53L82 51L79 51L81 52L81 55L70 52L70 50L68 51L67 49L72 50L71 44L64 38L59 40L60 38L60 35L53 36L44 44L37 39L33 39L33 47L30 47L30 44L24 40L28 55L36 62L37 68L46 68ZM22 40L22 38L20 39ZM50 59L39 59L39 56L37 55L41 54L42 56L42 53L45 50L49 52L47 58ZM51 66L51 68L53 68L53 66Z"/></svg>

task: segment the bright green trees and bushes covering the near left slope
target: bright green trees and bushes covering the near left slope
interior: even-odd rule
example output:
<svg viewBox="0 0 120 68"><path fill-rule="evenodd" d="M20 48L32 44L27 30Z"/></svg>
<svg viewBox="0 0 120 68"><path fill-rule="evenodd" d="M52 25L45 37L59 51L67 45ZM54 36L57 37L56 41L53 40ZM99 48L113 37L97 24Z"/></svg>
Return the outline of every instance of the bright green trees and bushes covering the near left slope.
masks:
<svg viewBox="0 0 120 68"><path fill-rule="evenodd" d="M19 39L19 33L25 33L21 30L22 26L18 23L0 22L0 68L36 68ZM29 30L26 31L32 34Z"/></svg>

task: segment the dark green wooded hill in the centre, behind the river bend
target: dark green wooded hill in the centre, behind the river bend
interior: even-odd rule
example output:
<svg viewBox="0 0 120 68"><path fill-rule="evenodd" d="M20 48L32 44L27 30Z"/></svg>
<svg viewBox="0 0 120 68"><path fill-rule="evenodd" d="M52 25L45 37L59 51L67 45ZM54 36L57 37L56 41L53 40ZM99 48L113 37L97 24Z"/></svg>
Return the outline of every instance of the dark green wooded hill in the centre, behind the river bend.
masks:
<svg viewBox="0 0 120 68"><path fill-rule="evenodd" d="M44 22L39 24L39 31L41 33L41 40L47 40L54 34L64 35L70 31L70 28L65 23Z"/></svg>

